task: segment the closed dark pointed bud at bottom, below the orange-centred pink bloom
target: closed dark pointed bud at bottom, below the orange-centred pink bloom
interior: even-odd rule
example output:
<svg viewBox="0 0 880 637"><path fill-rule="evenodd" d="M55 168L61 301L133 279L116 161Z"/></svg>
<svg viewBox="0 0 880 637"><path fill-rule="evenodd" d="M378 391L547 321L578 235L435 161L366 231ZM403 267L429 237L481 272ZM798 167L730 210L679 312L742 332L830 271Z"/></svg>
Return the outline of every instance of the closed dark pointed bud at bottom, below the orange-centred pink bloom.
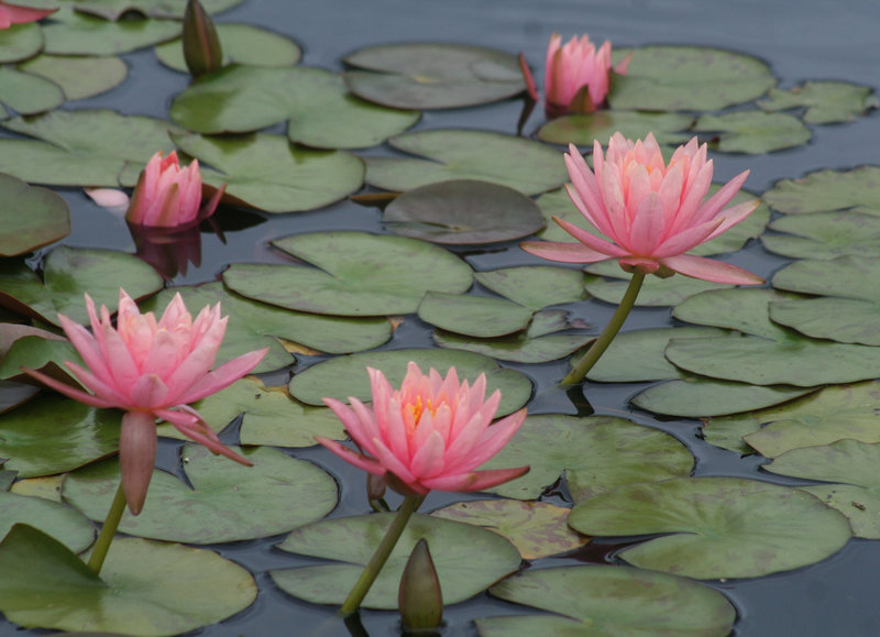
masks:
<svg viewBox="0 0 880 637"><path fill-rule="evenodd" d="M443 619L440 580L425 538L416 542L406 563L397 604L400 607L404 630L407 633L431 633Z"/></svg>

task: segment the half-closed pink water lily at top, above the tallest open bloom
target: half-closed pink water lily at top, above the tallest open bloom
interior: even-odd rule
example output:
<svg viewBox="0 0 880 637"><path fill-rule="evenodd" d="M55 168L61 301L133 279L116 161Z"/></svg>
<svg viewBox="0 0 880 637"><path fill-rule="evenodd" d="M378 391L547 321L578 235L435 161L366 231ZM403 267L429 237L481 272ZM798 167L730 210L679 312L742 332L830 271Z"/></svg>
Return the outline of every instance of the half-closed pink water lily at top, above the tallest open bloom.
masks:
<svg viewBox="0 0 880 637"><path fill-rule="evenodd" d="M614 72L626 75L630 55ZM612 73L612 43L607 40L596 50L586 34L572 37L564 45L553 33L547 47L544 70L546 110L548 117L565 112L588 113L596 110L608 95Z"/></svg>

